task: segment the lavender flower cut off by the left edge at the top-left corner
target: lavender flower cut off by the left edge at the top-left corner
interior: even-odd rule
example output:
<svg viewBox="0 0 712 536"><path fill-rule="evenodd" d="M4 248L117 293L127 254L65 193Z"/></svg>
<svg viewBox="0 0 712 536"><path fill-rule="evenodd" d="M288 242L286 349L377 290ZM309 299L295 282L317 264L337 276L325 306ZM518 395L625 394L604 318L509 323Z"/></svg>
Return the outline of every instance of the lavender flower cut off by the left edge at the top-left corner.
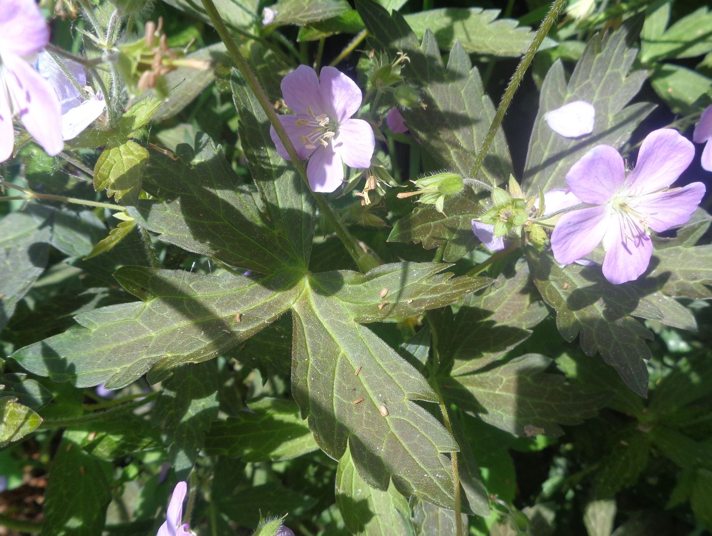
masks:
<svg viewBox="0 0 712 536"><path fill-rule="evenodd" d="M3 0L0 8L0 162L12 155L18 115L49 155L64 147L59 100L33 69L32 58L49 42L49 27L34 0Z"/></svg>

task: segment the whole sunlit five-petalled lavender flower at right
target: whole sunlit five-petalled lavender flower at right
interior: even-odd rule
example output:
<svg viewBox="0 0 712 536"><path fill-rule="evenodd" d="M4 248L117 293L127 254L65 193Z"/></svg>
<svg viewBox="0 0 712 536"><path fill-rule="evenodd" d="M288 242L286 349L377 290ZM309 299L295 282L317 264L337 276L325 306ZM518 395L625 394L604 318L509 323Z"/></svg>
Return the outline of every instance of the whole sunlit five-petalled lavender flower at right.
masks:
<svg viewBox="0 0 712 536"><path fill-rule="evenodd" d="M654 130L626 177L617 150L609 145L592 148L572 166L566 183L582 202L596 206L562 215L551 236L556 261L575 262L603 242L606 279L614 284L637 279L653 251L649 230L684 224L705 193L701 182L668 189L694 154L692 143L676 130Z"/></svg>

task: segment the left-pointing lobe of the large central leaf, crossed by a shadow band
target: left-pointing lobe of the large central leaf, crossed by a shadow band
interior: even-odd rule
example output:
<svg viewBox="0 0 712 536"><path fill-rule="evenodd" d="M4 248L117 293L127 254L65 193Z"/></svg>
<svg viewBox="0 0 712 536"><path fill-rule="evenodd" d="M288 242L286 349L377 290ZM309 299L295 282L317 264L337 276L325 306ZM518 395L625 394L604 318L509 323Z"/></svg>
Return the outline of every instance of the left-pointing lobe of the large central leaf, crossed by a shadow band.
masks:
<svg viewBox="0 0 712 536"><path fill-rule="evenodd" d="M80 325L16 351L13 359L28 371L78 387L106 382L107 388L120 388L150 369L155 382L174 366L212 359L260 331L299 292L284 275L218 278L125 267L116 277L146 301L79 314Z"/></svg>

